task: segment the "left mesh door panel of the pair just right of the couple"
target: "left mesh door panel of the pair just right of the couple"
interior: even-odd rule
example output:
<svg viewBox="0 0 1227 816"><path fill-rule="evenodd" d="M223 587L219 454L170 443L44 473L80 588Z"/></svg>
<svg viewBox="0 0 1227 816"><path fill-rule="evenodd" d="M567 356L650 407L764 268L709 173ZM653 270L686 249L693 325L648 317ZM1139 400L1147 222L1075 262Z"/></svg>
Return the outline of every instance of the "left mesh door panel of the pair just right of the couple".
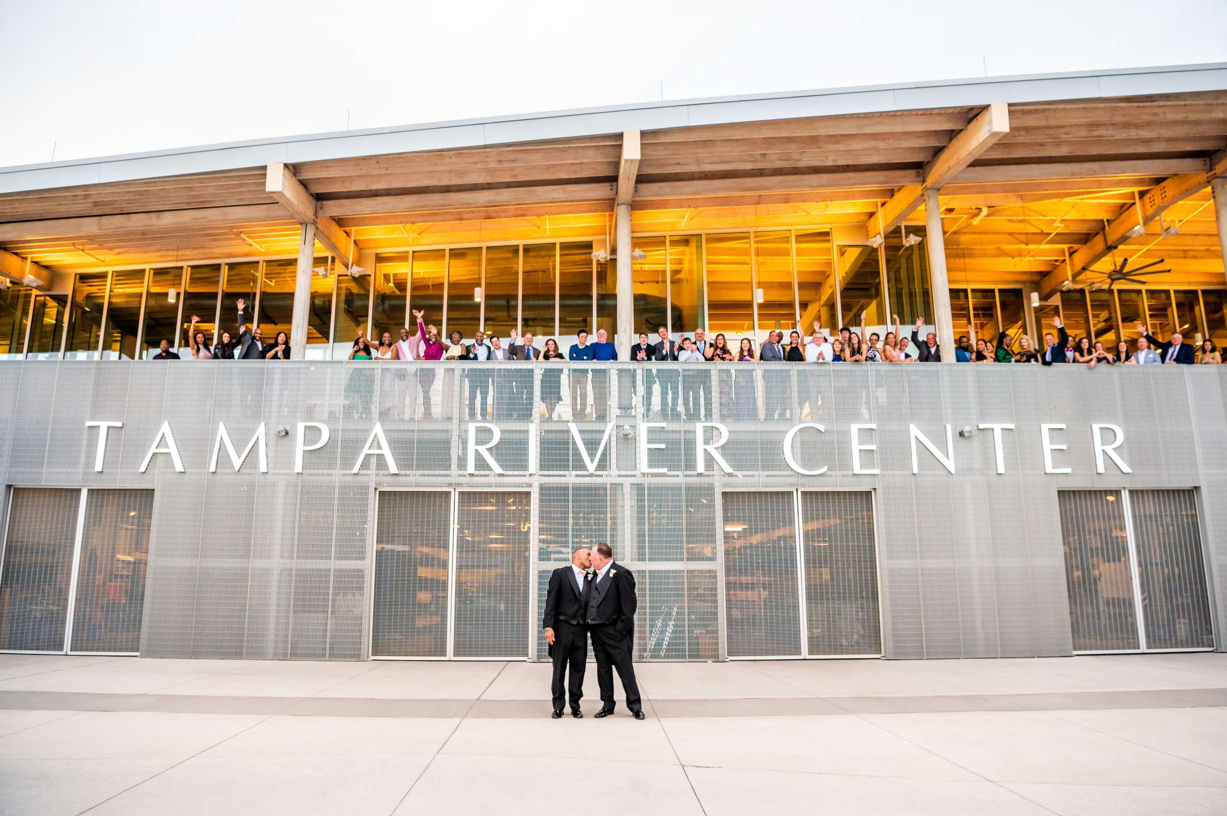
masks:
<svg viewBox="0 0 1227 816"><path fill-rule="evenodd" d="M800 656L794 495L728 492L721 503L729 656Z"/></svg>

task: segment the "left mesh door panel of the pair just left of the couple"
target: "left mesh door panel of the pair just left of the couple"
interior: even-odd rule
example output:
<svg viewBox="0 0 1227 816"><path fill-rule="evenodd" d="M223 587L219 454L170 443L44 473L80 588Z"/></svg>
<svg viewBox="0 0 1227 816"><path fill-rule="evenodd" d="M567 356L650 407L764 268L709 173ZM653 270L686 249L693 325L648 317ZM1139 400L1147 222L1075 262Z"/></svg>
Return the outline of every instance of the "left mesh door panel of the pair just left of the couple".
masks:
<svg viewBox="0 0 1227 816"><path fill-rule="evenodd" d="M378 497L371 654L445 658L452 492Z"/></svg>

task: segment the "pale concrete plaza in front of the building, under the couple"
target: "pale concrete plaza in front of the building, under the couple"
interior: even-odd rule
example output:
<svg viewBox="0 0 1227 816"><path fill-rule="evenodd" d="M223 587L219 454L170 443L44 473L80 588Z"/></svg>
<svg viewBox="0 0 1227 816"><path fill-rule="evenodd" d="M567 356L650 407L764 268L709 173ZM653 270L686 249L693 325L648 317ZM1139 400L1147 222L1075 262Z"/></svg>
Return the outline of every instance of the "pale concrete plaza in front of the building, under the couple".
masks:
<svg viewBox="0 0 1227 816"><path fill-rule="evenodd" d="M0 655L0 812L1227 812L1227 654L548 671Z"/></svg>

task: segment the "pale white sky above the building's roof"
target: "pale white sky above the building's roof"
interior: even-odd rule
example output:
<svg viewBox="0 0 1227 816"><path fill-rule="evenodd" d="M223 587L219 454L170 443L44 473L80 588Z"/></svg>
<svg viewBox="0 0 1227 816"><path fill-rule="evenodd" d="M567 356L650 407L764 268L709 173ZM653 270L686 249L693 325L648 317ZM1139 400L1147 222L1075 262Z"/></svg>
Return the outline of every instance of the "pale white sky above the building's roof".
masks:
<svg viewBox="0 0 1227 816"><path fill-rule="evenodd" d="M985 63L1227 61L1227 1L0 0L0 32L4 167Z"/></svg>

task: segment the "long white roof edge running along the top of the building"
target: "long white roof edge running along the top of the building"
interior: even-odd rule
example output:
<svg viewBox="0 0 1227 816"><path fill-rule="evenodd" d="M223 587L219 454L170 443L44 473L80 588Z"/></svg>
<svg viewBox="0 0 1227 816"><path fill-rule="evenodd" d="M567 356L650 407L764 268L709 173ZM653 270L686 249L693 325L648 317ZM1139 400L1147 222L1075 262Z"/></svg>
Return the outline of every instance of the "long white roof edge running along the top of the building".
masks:
<svg viewBox="0 0 1227 816"><path fill-rule="evenodd" d="M707 124L890 113L991 102L1056 102L1227 90L1227 63L933 80L642 102L481 119L342 130L0 167L0 193L103 184L425 150L475 147Z"/></svg>

